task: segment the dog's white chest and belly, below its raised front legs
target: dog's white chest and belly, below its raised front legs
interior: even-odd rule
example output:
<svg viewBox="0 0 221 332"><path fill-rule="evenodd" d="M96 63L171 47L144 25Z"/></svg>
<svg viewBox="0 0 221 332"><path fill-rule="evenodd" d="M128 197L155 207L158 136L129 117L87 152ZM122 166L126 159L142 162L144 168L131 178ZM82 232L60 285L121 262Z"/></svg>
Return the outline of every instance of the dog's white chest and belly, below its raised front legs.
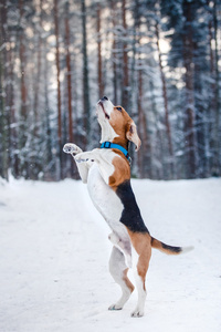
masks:
<svg viewBox="0 0 221 332"><path fill-rule="evenodd" d="M87 188L93 204L109 227L117 232L124 229L119 221L124 206L115 191L102 178L96 163L88 172Z"/></svg>

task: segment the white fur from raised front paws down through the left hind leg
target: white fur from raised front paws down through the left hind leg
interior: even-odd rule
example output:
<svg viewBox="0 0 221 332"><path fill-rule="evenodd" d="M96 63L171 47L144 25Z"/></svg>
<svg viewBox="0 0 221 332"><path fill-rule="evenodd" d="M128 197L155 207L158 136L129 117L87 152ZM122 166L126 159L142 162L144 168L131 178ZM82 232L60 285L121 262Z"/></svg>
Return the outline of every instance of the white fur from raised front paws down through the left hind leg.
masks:
<svg viewBox="0 0 221 332"><path fill-rule="evenodd" d="M119 310L130 297L130 289L123 279L124 270L131 267L131 245L126 227L119 221L123 204L115 191L108 186L109 176L115 168L112 164L114 157L120 156L110 149L93 149L77 153L75 144L65 145L65 151L76 152L74 157L83 183L87 184L91 199L101 215L104 217L113 234L109 240L113 242L113 253L109 261L109 270L114 280L122 288L120 299L109 310Z"/></svg>

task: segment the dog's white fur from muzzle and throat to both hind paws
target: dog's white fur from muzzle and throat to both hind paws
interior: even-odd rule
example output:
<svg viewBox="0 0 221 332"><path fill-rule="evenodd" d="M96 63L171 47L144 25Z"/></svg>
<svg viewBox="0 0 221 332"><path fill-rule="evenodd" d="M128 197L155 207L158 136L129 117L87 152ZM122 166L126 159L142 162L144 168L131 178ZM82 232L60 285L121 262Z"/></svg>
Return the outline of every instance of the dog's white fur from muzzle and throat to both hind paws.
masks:
<svg viewBox="0 0 221 332"><path fill-rule="evenodd" d="M103 106L97 103L97 120L102 127L101 143L112 142L118 135L109 124L108 116L112 115L114 105L110 101L103 100ZM105 116L108 115L108 116ZM109 240L113 242L113 251L109 260L109 271L114 280L122 288L120 299L109 307L109 310L119 310L129 299L131 289L125 281L125 270L131 267L131 243L126 227L119 221L124 206L116 193L108 186L109 177L115 172L113 159L122 158L112 149L95 148L91 152L82 152L75 144L66 144L64 152L72 154L76 162L83 183L87 184L88 193L94 206L102 214L113 234ZM74 156L75 155L75 156ZM135 269L136 270L136 269ZM146 292L141 290L140 277L135 272L138 287L138 304L133 317L144 314L144 302Z"/></svg>

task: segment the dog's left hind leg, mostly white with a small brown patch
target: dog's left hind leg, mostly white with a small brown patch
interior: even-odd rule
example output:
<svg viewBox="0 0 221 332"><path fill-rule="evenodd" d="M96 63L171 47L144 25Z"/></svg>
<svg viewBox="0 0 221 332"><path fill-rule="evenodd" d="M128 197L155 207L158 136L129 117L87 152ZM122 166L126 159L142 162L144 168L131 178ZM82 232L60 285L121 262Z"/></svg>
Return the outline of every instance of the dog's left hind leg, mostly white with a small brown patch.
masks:
<svg viewBox="0 0 221 332"><path fill-rule="evenodd" d="M113 247L109 259L109 272L114 280L120 286L122 297L115 304L112 304L108 308L109 310L123 309L124 304L127 302L131 292L134 291L134 286L127 277L127 271L128 268L125 262L124 253L118 248Z"/></svg>

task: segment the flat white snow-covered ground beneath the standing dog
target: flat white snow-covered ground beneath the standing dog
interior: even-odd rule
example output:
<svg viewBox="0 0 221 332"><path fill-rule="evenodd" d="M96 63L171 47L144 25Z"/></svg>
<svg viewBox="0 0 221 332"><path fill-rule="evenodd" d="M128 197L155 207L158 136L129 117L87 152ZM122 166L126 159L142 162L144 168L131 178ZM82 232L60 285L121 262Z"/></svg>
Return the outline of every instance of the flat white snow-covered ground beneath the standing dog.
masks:
<svg viewBox="0 0 221 332"><path fill-rule="evenodd" d="M221 331L221 179L133 180L151 235L145 317L108 272L109 229L81 181L0 181L0 332ZM133 276L130 276L133 279Z"/></svg>

